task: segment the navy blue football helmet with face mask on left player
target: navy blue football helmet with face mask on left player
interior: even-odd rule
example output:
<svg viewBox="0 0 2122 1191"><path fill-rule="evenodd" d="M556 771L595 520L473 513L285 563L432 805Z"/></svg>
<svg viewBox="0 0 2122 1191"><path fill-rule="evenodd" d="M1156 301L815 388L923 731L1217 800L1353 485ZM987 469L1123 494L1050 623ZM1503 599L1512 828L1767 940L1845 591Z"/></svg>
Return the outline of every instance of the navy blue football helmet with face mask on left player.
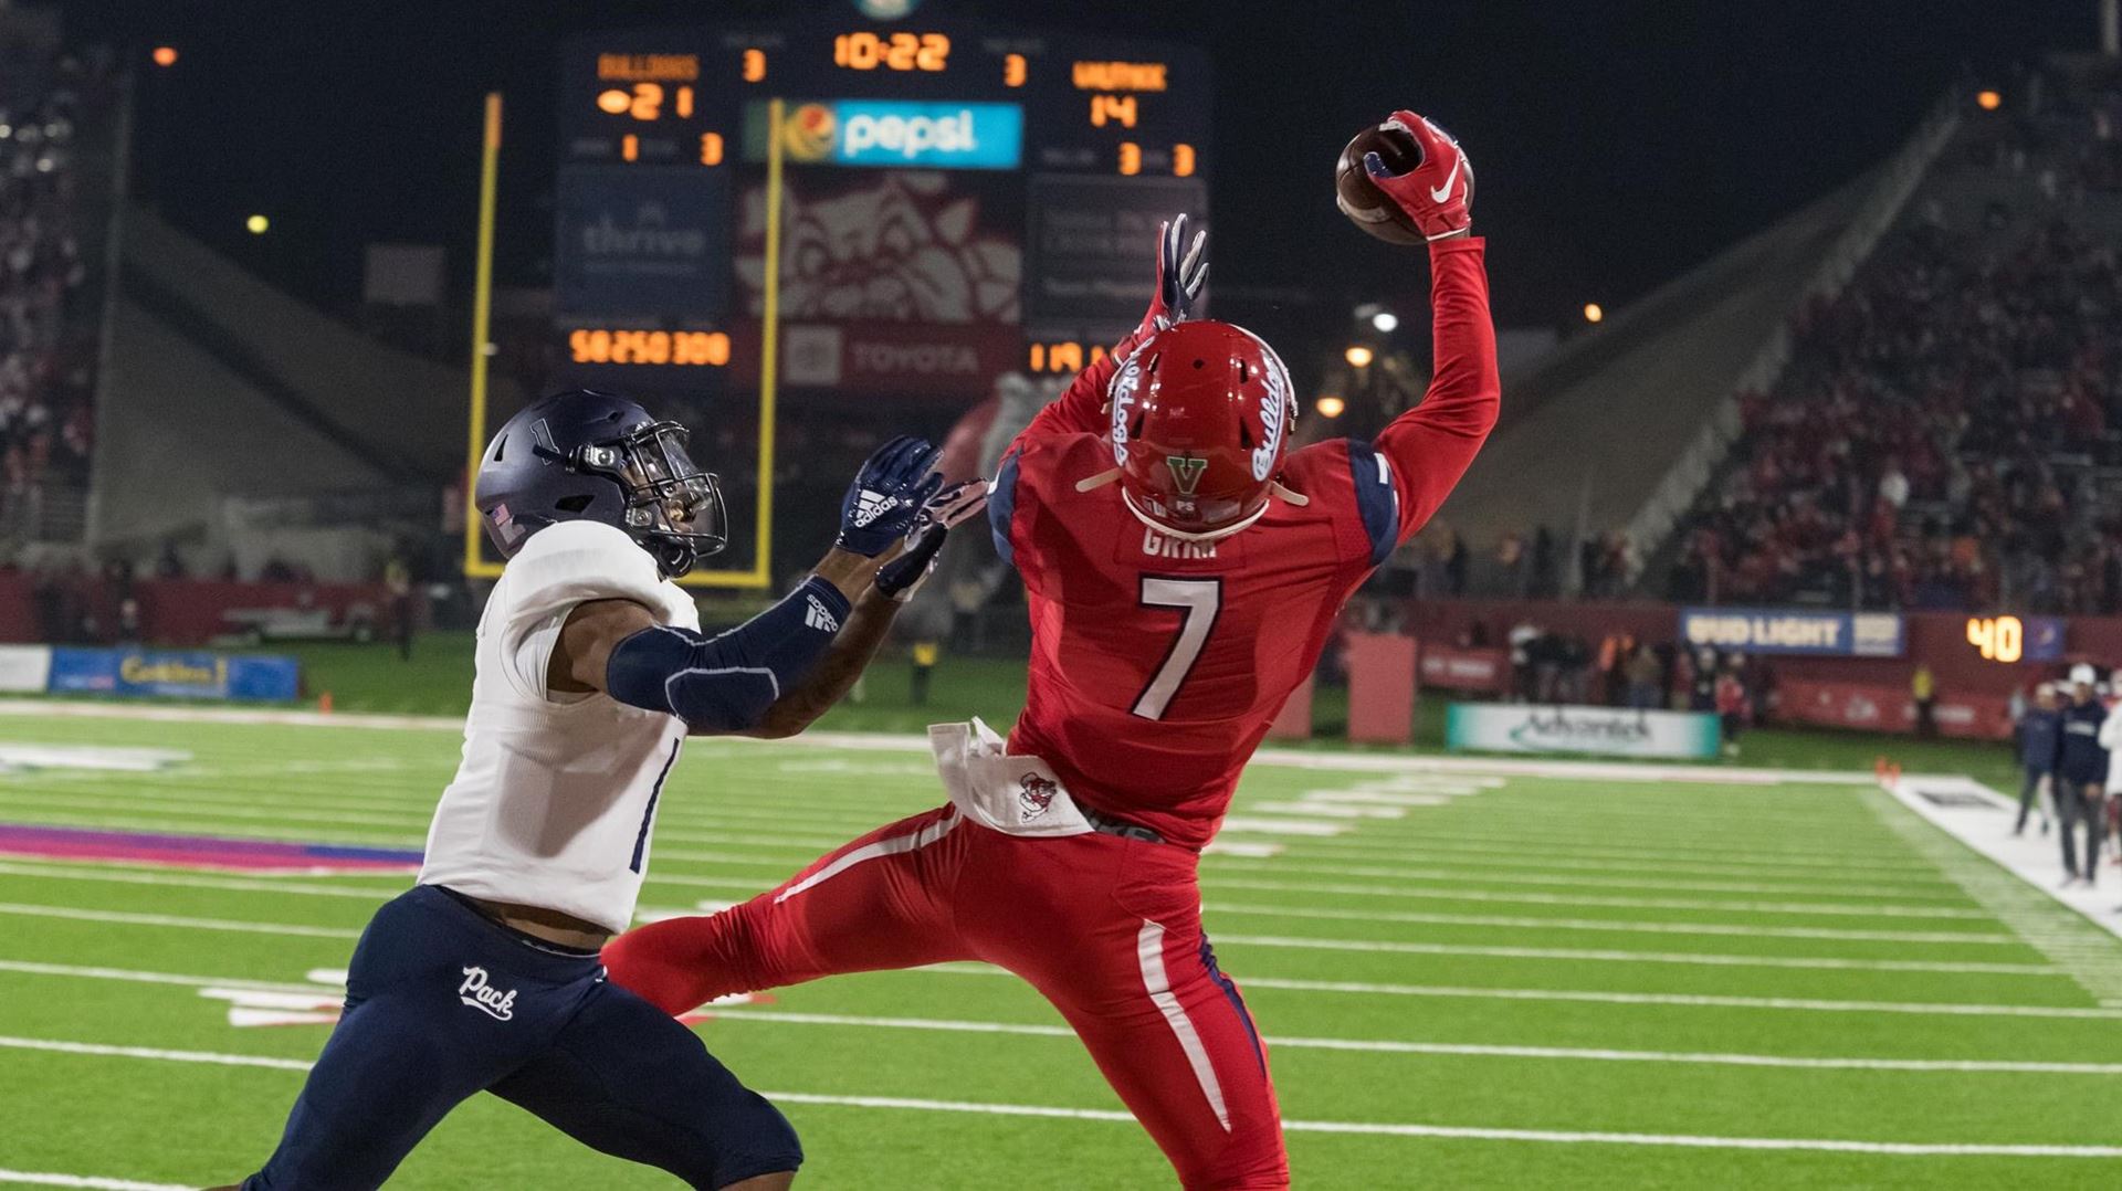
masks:
<svg viewBox="0 0 2122 1191"><path fill-rule="evenodd" d="M486 537L514 558L547 524L596 520L654 554L664 577L683 575L730 543L721 486L685 454L688 437L611 393L541 397L480 459L473 501Z"/></svg>

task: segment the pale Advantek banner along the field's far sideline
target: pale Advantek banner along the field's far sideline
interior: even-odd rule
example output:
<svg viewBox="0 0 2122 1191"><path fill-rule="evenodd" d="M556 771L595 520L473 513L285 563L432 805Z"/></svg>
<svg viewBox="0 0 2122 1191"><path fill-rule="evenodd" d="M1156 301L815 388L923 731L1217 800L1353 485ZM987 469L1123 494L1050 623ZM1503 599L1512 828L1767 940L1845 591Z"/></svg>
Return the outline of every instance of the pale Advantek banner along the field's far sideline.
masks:
<svg viewBox="0 0 2122 1191"><path fill-rule="evenodd" d="M1706 711L1454 703L1445 715L1451 749L1708 758L1717 745L1717 718Z"/></svg>

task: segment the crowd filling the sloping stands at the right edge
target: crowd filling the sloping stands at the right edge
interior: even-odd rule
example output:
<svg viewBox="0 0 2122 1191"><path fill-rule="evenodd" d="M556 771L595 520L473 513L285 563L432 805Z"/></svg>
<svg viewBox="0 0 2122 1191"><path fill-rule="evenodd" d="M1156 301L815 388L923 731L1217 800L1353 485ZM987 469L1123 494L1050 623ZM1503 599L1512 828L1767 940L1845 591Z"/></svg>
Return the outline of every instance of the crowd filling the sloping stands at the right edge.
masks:
<svg viewBox="0 0 2122 1191"><path fill-rule="evenodd" d="M1950 153L1948 176L1973 178L1959 195L1988 193L1976 227L1931 195L1797 312L1666 594L2122 607L2122 510L2097 476L2122 418L2122 87L2046 93Z"/></svg>

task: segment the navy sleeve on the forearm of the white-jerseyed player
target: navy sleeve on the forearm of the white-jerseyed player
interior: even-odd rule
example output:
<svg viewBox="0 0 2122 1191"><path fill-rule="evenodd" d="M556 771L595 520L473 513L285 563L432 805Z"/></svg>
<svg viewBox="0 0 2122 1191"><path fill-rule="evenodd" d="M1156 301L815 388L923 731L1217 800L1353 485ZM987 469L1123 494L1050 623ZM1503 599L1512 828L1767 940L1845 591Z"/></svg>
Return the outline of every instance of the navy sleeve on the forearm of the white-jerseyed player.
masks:
<svg viewBox="0 0 2122 1191"><path fill-rule="evenodd" d="M838 588L813 575L719 637L643 628L613 645L605 690L630 707L677 715L694 732L743 732L817 667L849 609Z"/></svg>

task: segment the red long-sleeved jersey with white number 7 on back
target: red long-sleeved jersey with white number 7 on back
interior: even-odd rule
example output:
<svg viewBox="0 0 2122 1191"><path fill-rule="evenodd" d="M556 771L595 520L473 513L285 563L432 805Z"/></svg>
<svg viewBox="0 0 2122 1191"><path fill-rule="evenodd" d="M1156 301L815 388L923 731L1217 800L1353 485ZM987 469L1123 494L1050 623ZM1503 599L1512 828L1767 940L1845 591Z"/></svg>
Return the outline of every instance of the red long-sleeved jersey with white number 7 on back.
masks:
<svg viewBox="0 0 2122 1191"><path fill-rule="evenodd" d="M1407 541L1496 422L1481 240L1430 246L1437 376L1375 442L1292 452L1252 527L1218 541L1137 520L1110 471L1112 361L1076 378L1004 456L989 518L1025 580L1031 679L1010 752L1093 811L1203 847L1347 597Z"/></svg>

